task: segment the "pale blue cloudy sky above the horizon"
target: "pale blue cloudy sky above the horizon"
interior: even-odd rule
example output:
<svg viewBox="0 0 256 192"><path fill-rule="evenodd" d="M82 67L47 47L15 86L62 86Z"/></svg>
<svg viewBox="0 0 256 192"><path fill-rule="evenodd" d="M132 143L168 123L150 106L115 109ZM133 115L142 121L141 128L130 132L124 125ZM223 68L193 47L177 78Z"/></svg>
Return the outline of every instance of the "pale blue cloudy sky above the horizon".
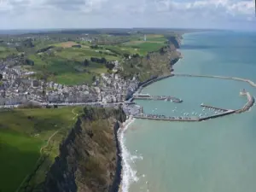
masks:
<svg viewBox="0 0 256 192"><path fill-rule="evenodd" d="M216 28L256 31L254 0L0 0L0 29Z"/></svg>

